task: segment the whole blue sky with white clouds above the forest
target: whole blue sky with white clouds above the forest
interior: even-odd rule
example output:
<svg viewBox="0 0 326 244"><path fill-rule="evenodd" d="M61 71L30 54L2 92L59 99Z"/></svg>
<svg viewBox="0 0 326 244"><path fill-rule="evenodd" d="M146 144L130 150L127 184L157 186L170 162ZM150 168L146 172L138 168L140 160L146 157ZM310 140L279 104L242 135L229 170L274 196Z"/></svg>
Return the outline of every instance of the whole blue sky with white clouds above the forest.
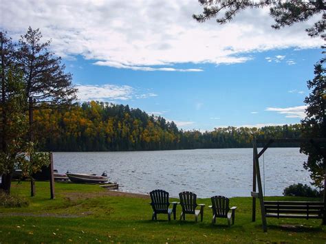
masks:
<svg viewBox="0 0 326 244"><path fill-rule="evenodd" d="M28 27L63 57L80 101L129 104L183 129L294 124L321 57L314 20L273 30L268 9L197 23L195 0L3 0L0 28ZM318 16L316 16L318 18Z"/></svg>

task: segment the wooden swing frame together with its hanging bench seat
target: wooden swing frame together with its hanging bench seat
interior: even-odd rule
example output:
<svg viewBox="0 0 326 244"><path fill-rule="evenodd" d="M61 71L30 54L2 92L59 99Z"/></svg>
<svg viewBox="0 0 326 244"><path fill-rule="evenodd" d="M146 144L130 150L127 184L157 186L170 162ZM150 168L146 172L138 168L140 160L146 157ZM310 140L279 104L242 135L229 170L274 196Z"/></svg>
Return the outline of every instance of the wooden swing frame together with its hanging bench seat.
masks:
<svg viewBox="0 0 326 244"><path fill-rule="evenodd" d="M280 143L311 143L316 151L324 157L324 198L323 201L264 201L263 187L261 184L261 173L259 169L259 157L265 153L273 142ZM259 199L261 206L261 221L263 231L267 232L266 217L274 218L301 218L301 219L323 219L326 224L326 153L325 148L320 147L325 143L326 138L318 139L270 139L254 140L253 144L253 182L252 182L252 221L256 221L256 199ZM258 153L257 144L263 144L263 149ZM256 192L258 186L258 192Z"/></svg>

